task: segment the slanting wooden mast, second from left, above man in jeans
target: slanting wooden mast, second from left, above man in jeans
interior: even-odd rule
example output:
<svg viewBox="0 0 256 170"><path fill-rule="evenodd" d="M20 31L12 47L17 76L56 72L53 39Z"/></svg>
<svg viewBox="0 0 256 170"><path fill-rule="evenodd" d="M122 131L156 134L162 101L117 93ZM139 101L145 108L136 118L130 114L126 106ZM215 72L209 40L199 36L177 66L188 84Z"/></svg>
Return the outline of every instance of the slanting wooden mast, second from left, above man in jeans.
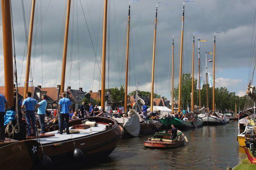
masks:
<svg viewBox="0 0 256 170"><path fill-rule="evenodd" d="M30 58L31 58L32 38L33 38L33 27L34 27L35 3L36 3L36 0L32 0L30 26L29 26L29 37L28 37L28 55L27 55L27 65L26 65L26 77L25 77L25 86L24 86L24 95L23 95L24 99L26 99L26 94L28 92Z"/></svg>

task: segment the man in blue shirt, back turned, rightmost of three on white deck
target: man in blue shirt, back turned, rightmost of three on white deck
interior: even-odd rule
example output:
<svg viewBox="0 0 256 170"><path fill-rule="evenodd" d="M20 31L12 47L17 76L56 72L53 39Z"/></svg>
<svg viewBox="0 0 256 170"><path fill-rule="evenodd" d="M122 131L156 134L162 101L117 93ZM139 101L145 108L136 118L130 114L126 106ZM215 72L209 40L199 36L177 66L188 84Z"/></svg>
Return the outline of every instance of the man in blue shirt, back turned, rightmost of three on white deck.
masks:
<svg viewBox="0 0 256 170"><path fill-rule="evenodd" d="M69 133L68 129L68 120L69 120L69 110L71 109L71 102L69 99L66 98L66 94L62 93L61 94L62 99L60 99L59 102L59 111L60 111L60 134L62 135L63 133L63 121L65 119L65 124L66 124L66 133Z"/></svg>

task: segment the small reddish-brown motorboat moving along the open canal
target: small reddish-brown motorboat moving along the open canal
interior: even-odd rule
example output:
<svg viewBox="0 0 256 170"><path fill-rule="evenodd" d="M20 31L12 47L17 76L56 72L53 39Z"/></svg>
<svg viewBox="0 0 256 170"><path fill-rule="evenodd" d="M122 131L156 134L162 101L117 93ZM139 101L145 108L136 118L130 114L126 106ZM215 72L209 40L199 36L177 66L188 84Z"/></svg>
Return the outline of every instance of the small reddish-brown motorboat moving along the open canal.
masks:
<svg viewBox="0 0 256 170"><path fill-rule="evenodd" d="M154 137L148 138L148 140L144 141L144 147L161 149L173 148L182 146L185 141L188 142L188 139L180 130L178 130L177 137L174 140L171 140L171 133L161 132L155 133Z"/></svg>

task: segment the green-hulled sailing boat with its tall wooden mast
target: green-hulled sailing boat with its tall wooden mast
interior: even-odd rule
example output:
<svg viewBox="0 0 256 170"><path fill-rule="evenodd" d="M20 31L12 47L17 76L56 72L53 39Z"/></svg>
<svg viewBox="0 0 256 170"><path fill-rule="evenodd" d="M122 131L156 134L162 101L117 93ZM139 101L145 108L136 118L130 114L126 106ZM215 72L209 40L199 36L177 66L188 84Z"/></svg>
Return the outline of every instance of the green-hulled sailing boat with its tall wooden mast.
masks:
<svg viewBox="0 0 256 170"><path fill-rule="evenodd" d="M181 77L182 77L182 52L183 52L183 27L184 27L184 19L185 19L185 2L183 3L183 10L182 10L182 31L181 31L181 45L180 45L180 65L179 65L179 108L178 112L180 113L181 108ZM194 36L193 36L193 45L194 45ZM193 46L194 47L194 46ZM194 48L193 48L194 49ZM173 44L172 44L172 61L174 63L174 37L173 37ZM172 64L172 67L174 67L174 64ZM174 69L172 69L174 71ZM172 76L173 79L173 76ZM172 80L172 86L173 80ZM173 95L172 95L173 96ZM174 125L179 130L188 130L196 128L197 126L202 125L202 120L198 119L197 115L194 115L193 113L190 115L187 115L188 120L181 120L177 119L175 117L171 118L161 118L161 122L167 126L167 128L170 128L171 125Z"/></svg>

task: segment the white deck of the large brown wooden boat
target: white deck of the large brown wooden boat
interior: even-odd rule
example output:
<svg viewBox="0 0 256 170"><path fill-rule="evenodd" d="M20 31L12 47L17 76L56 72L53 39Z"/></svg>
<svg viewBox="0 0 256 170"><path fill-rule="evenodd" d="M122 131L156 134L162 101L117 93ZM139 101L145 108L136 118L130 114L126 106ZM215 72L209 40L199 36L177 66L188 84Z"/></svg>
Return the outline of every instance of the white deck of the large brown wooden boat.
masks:
<svg viewBox="0 0 256 170"><path fill-rule="evenodd" d="M71 127L69 127L69 129L71 129ZM55 136L41 138L41 142L42 142L42 144L47 144L47 143L51 143L51 142L60 142L60 141L66 140L66 139L71 139L71 136L73 136L73 139L76 139L81 136L87 136L87 135L101 132L101 131L105 130L105 127L106 127L106 125L98 124L97 127L90 127L88 129L78 129L78 130L80 130L80 133L73 133L73 134L69 134L69 135L66 133L63 133L62 135L60 135L58 133L58 130L55 130L52 132L47 132L47 134L54 134Z"/></svg>

